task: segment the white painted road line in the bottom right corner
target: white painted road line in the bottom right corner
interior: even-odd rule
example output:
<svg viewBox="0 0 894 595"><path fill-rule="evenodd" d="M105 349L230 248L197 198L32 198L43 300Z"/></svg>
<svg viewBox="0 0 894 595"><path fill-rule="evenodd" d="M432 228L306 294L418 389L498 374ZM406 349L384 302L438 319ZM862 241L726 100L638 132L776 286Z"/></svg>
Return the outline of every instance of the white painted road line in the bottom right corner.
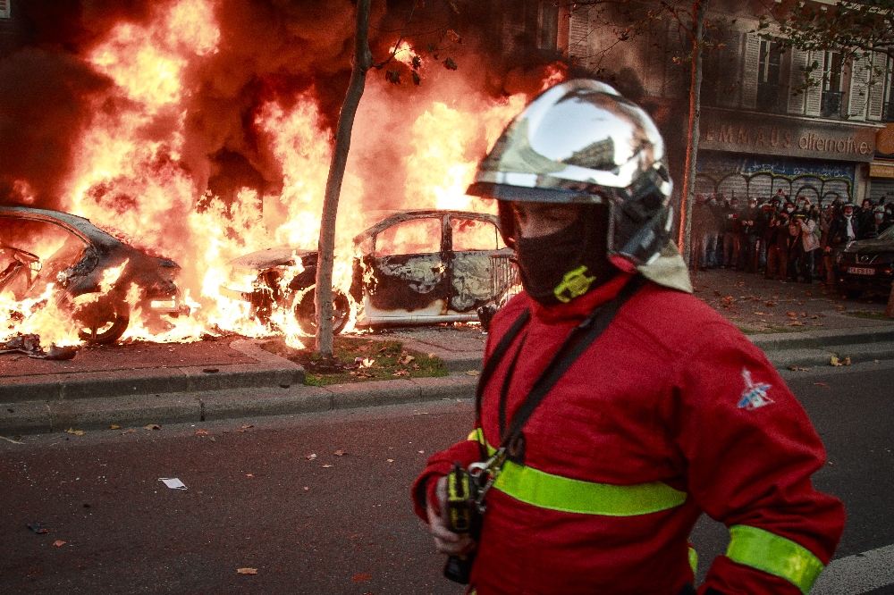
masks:
<svg viewBox="0 0 894 595"><path fill-rule="evenodd" d="M859 595L890 584L894 584L894 545L832 560L810 595Z"/></svg>

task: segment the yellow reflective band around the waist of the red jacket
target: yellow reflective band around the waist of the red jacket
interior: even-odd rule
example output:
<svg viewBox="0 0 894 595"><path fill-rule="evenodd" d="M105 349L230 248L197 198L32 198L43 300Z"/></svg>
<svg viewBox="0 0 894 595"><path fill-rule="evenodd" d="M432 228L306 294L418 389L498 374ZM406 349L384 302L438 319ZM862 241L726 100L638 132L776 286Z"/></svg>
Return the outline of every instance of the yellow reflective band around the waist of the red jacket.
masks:
<svg viewBox="0 0 894 595"><path fill-rule="evenodd" d="M482 441L479 429L469 440ZM487 451L493 453L491 445ZM583 515L634 516L679 507L686 501L686 492L674 490L662 482L613 485L545 473L534 467L512 461L503 464L493 482L496 490L532 506Z"/></svg>

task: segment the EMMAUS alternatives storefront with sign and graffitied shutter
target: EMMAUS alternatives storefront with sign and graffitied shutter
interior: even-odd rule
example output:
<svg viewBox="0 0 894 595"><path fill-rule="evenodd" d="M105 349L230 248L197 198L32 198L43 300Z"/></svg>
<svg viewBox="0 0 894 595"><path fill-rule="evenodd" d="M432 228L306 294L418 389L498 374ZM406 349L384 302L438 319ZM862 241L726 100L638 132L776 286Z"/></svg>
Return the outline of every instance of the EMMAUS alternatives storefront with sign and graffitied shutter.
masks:
<svg viewBox="0 0 894 595"><path fill-rule="evenodd" d="M827 204L866 194L878 126L704 108L696 193Z"/></svg>

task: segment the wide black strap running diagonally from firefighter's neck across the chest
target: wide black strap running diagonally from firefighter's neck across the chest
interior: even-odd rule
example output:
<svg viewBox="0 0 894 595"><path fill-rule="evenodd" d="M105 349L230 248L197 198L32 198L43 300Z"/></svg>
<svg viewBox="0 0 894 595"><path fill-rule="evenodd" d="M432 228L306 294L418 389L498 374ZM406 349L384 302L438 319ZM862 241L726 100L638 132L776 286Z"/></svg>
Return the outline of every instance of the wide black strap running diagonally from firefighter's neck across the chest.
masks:
<svg viewBox="0 0 894 595"><path fill-rule="evenodd" d="M618 295L611 299L602 307L597 308L592 314L586 317L583 323L578 324L569 333L568 339L562 343L555 355L552 356L550 363L546 365L544 372L537 378L531 391L527 393L527 398L519 406L519 409L512 415L512 422L505 436L502 437L501 447L509 446L512 440L515 440L524 429L527 420L534 413L534 410L546 398L546 395L556 385L572 364L577 361L587 348L599 338L603 331L608 328L611 321L614 320L615 314L618 314L620 307L623 306L629 298L637 292L638 289L645 285L645 277L637 274L633 279L628 281ZM507 346L508 348L508 346Z"/></svg>

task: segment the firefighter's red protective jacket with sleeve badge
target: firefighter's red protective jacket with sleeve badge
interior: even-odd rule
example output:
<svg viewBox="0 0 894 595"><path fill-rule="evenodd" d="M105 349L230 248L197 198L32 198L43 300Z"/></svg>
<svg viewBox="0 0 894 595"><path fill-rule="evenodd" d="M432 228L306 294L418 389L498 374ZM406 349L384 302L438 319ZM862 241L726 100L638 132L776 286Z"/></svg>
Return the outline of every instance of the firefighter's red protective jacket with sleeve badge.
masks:
<svg viewBox="0 0 894 595"><path fill-rule="evenodd" d="M489 444L500 442L501 389L522 338L509 420L572 327L627 281L622 274L560 306L522 293L496 315L485 357L519 314L529 309L532 318L485 389L481 425ZM793 581L810 582L829 563L844 526L839 500L810 482L825 459L822 443L760 349L698 299L654 283L569 368L524 437L525 467L610 489L670 486L682 503L647 514L592 514L494 488L473 567L477 595L676 595L693 581L687 537L703 512L738 536L731 557L713 561L700 592L799 595ZM429 480L454 461L479 457L473 440L431 457L413 486L417 515L426 519Z"/></svg>

